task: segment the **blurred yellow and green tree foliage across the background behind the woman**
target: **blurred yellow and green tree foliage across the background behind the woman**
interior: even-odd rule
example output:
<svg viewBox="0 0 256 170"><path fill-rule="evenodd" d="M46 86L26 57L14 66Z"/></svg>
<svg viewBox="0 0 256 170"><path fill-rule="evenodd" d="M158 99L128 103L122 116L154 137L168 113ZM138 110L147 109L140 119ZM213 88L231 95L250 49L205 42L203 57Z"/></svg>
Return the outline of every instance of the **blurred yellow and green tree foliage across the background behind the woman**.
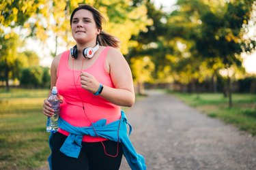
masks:
<svg viewBox="0 0 256 170"><path fill-rule="evenodd" d="M20 78L21 68L37 65L35 54L20 54L16 50L19 41L24 44L25 37L33 36L42 42L54 37L53 56L58 46L70 48L74 44L70 13L80 3L93 5L103 14L104 31L119 37L128 63L135 65L144 56L150 58L154 71L146 72L150 72L154 83L199 84L209 77L216 79L223 69L235 70L233 77L237 78L238 71L240 75L244 71L241 52L255 50L255 39L244 36L248 32L248 20L255 22L251 16L253 0L178 0L169 14L157 9L150 0L3 1L0 4L1 80ZM134 78L136 82L139 76ZM143 78L143 81L150 80Z"/></svg>

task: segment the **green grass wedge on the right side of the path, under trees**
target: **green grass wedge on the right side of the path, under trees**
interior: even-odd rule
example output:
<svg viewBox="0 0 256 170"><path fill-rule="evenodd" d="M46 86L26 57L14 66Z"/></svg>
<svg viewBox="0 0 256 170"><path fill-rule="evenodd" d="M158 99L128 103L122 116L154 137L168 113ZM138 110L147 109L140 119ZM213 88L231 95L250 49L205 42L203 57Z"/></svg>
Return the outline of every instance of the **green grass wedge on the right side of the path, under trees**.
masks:
<svg viewBox="0 0 256 170"><path fill-rule="evenodd" d="M174 92L173 95L212 118L219 118L256 135L256 95L233 94L231 108L223 94L203 93L197 97L196 94Z"/></svg>

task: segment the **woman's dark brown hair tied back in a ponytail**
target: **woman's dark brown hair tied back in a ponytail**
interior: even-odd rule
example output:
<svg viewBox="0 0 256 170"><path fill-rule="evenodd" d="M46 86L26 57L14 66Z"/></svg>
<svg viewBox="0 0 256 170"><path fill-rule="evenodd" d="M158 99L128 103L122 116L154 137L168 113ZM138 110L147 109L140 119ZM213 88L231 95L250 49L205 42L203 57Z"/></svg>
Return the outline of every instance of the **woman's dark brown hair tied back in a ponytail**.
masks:
<svg viewBox="0 0 256 170"><path fill-rule="evenodd" d="M100 29L100 34L97 36L97 41L100 46L111 46L113 48L119 48L119 40L113 35L102 31L102 20L104 20L104 16L102 16L98 10L90 5L83 4L79 5L79 7L76 7L70 16L70 25L72 24L74 14L79 10L88 10L94 16L96 27Z"/></svg>

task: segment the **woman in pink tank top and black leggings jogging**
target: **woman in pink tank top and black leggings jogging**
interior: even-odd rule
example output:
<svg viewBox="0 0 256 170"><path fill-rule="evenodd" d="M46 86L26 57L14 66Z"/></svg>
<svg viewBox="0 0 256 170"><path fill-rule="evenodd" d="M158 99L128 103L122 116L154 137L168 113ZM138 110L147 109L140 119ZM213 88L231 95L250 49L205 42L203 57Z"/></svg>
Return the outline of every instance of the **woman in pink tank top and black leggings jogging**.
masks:
<svg viewBox="0 0 256 170"><path fill-rule="evenodd" d="M83 135L81 151L72 158L60 151L70 132L59 127L51 138L52 169L112 170L121 164L123 149L119 139L100 137L92 125L101 119L106 124L119 120L120 106L131 107L135 98L130 67L116 49L119 41L102 31L103 19L90 5L76 7L70 17L76 46L53 59L51 88L57 86L61 97L61 120L74 127L92 126L95 134ZM43 112L53 116L47 99Z"/></svg>

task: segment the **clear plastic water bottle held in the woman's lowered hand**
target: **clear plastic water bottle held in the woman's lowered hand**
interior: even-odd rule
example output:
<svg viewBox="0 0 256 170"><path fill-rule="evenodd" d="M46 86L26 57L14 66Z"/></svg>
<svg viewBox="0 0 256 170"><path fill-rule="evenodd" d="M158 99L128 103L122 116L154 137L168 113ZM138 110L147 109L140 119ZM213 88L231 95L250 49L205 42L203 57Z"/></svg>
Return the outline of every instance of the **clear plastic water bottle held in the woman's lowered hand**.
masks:
<svg viewBox="0 0 256 170"><path fill-rule="evenodd" d="M53 86L52 94L48 97L48 102L51 103L52 108L54 109L54 115L47 118L46 131L55 133L58 131L58 118L59 118L59 97L57 96L57 87Z"/></svg>

